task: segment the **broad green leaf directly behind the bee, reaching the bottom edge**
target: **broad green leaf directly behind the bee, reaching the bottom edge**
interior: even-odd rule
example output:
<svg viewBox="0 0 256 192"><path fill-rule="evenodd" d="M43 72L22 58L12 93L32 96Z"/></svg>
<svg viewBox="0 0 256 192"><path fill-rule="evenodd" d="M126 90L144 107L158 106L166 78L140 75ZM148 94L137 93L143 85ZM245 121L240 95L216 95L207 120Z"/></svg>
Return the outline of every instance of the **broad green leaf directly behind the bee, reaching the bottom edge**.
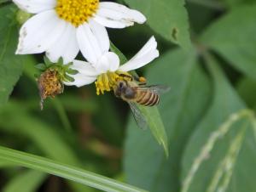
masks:
<svg viewBox="0 0 256 192"><path fill-rule="evenodd" d="M169 158L154 144L152 136L131 119L125 142L125 175L130 184L154 192L177 192L180 161L195 124L207 108L210 85L196 62L194 52L168 52L148 66L148 84L171 87L161 95L159 109L166 126Z"/></svg>

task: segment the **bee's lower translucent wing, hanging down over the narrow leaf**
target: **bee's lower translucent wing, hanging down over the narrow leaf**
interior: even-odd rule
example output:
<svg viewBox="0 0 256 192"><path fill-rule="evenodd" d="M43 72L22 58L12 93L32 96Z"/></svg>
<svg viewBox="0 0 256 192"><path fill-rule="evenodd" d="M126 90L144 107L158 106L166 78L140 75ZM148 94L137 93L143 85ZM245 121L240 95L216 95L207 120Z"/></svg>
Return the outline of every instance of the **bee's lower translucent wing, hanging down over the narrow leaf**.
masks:
<svg viewBox="0 0 256 192"><path fill-rule="evenodd" d="M147 129L148 123L145 117L143 116L143 113L141 112L141 110L139 110L139 108L137 107L137 104L133 102L128 102L128 104L131 107L131 112L135 121L137 122L137 126L142 128L143 130Z"/></svg>

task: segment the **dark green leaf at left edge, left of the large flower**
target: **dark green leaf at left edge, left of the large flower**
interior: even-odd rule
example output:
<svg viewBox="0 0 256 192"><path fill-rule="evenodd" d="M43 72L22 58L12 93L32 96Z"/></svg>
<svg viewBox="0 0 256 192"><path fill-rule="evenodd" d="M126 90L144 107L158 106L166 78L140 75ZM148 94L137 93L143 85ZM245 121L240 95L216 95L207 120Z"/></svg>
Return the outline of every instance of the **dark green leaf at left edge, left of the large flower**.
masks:
<svg viewBox="0 0 256 192"><path fill-rule="evenodd" d="M0 106L5 104L19 80L24 58L15 55L18 33L13 6L0 8Z"/></svg>

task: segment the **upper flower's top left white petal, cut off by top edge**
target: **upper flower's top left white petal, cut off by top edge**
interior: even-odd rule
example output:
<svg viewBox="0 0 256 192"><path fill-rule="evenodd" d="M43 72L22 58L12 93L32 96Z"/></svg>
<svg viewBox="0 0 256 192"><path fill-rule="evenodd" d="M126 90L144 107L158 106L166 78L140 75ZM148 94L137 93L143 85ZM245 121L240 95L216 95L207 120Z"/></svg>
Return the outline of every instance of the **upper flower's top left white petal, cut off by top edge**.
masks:
<svg viewBox="0 0 256 192"><path fill-rule="evenodd" d="M55 8L55 0L13 0L22 10L31 14L38 14L42 11Z"/></svg>

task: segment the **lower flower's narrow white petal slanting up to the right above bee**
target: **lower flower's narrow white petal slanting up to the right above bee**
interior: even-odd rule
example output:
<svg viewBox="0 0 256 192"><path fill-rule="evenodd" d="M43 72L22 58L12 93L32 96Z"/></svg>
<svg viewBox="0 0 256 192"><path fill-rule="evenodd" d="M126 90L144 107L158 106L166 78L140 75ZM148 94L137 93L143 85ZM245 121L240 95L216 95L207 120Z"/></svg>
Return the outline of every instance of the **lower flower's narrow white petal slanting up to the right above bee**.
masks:
<svg viewBox="0 0 256 192"><path fill-rule="evenodd" d="M151 37L144 47L127 63L119 67L119 71L132 71L147 65L155 58L159 57L157 42Z"/></svg>

